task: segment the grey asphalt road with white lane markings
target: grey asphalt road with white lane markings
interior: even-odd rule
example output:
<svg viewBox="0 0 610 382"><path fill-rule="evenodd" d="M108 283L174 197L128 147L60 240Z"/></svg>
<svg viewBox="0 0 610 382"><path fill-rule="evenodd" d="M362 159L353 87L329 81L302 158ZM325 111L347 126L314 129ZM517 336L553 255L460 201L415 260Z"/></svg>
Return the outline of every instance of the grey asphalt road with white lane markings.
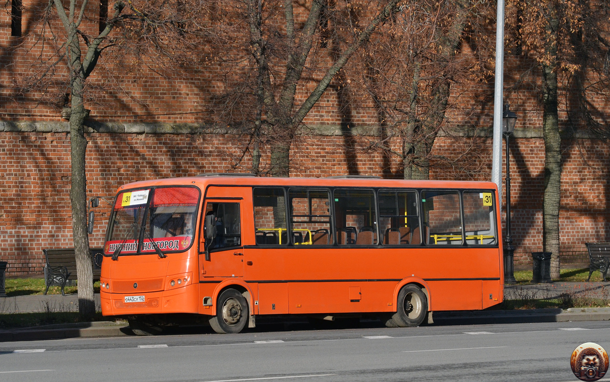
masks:
<svg viewBox="0 0 610 382"><path fill-rule="evenodd" d="M365 325L366 326L366 325ZM0 343L0 381L578 381L608 322L251 331Z"/></svg>

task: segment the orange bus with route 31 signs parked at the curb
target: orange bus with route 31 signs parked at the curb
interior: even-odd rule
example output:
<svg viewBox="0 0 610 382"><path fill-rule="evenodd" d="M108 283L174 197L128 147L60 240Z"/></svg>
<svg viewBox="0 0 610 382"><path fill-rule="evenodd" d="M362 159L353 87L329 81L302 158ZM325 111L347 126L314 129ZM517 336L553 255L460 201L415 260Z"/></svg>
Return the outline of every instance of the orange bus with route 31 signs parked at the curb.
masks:
<svg viewBox="0 0 610 382"><path fill-rule="evenodd" d="M503 300L494 183L248 174L121 186L107 228L102 314L136 334L203 319L218 333L256 316L429 312Z"/></svg>

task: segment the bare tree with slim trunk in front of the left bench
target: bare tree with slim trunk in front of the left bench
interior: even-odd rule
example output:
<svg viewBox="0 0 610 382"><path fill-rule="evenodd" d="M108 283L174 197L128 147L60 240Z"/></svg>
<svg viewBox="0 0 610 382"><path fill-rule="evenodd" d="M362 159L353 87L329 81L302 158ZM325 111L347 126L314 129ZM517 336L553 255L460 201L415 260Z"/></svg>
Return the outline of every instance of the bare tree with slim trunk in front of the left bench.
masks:
<svg viewBox="0 0 610 382"><path fill-rule="evenodd" d="M40 54L32 62L30 73L20 80L21 96L38 97L38 102L57 99L57 93L65 92L70 109L70 202L72 232L76 252L79 313L82 317L95 314L93 299L93 274L87 233L87 177L85 172L85 120L88 110L85 104L95 98L95 85L88 81L99 66L102 52L119 60L121 49L130 49L132 60L140 65L154 61L155 68L167 69L185 62L185 54L204 37L204 28L198 26L202 10L199 1L188 3L192 12L187 12L186 3L165 1L118 0L113 4L112 15L100 19L104 12L98 4L88 0L47 0L36 9L36 25L30 35L17 49ZM107 13L106 13L107 14ZM93 21L93 23L91 22ZM137 46L138 49L134 49ZM154 52L154 53L153 53ZM160 65L159 65L160 64ZM149 66L151 68L151 66Z"/></svg>

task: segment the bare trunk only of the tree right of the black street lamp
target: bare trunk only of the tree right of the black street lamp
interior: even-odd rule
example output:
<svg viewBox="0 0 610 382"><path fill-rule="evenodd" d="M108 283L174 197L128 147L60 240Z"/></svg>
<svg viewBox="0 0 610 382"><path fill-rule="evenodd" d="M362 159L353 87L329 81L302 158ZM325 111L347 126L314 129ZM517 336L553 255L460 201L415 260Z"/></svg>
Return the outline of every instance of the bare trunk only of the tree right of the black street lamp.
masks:
<svg viewBox="0 0 610 382"><path fill-rule="evenodd" d="M552 252L551 278L559 278L559 202L561 189L561 136L557 114L557 73L542 65L544 102L544 206L542 208L544 251Z"/></svg>

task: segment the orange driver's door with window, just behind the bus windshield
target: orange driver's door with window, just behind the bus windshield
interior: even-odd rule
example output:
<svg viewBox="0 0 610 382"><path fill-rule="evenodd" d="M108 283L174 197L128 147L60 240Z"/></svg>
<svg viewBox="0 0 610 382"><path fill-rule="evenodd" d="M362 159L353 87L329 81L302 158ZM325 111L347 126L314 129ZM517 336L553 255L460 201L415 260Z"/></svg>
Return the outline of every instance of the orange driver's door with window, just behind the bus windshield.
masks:
<svg viewBox="0 0 610 382"><path fill-rule="evenodd" d="M250 194L248 188L208 188L199 232L202 279L243 277L242 217Z"/></svg>

